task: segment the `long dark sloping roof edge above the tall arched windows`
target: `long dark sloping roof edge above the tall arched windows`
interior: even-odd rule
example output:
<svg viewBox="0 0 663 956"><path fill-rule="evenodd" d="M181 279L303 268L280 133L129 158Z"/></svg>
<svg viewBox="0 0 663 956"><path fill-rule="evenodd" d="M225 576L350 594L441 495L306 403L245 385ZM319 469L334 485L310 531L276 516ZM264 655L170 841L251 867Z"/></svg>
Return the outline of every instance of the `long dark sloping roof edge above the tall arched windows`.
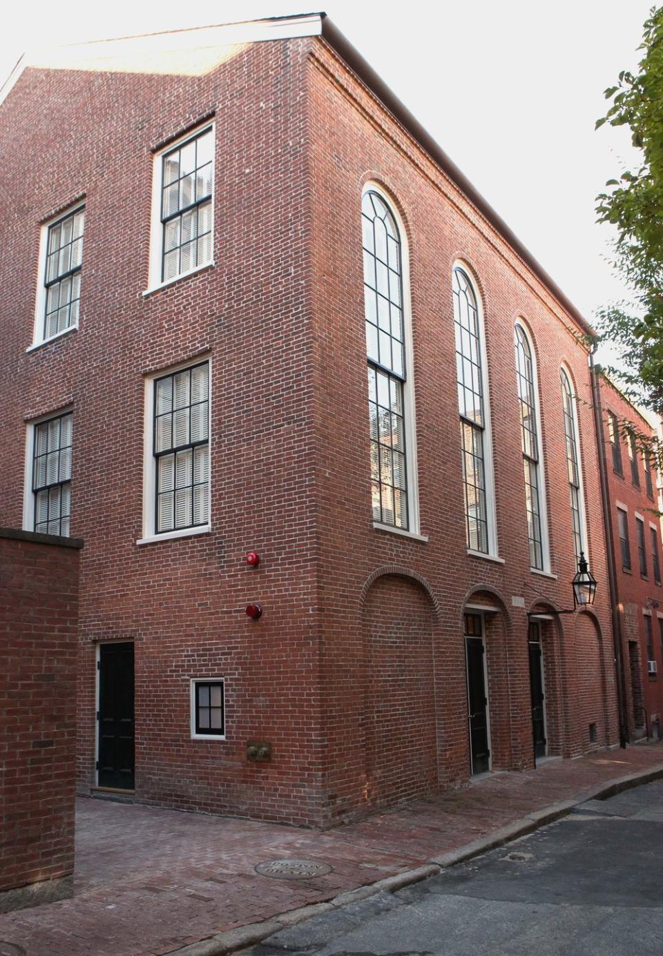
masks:
<svg viewBox="0 0 663 956"><path fill-rule="evenodd" d="M481 212L488 222L497 229L497 232L506 240L506 242L518 252L519 256L541 279L541 282L550 293L560 302L565 311L580 326L588 336L595 336L596 333L586 318L573 305L571 300L565 295L554 279L546 272L541 263L524 246L518 236L509 228L493 206L487 202L481 193L469 181L467 176L460 171L453 160L447 156L442 147L431 137L431 134L422 126L422 124L409 112L408 107L393 93L387 86L387 83L373 70L369 63L350 41L341 33L326 13L322 17L322 37L338 53L347 65L359 76L368 89L375 96L382 100L387 110L398 120L402 126L407 129L420 146L431 156L431 159L439 165L449 178L458 186L458 188L474 203L479 212Z"/></svg>

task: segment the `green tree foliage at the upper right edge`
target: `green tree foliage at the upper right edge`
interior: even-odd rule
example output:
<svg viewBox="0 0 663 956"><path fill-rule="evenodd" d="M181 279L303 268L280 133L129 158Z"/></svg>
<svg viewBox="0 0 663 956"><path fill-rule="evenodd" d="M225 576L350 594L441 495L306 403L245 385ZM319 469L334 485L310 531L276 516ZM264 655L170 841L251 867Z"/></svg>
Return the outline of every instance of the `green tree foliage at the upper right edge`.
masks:
<svg viewBox="0 0 663 956"><path fill-rule="evenodd" d="M663 413L663 7L644 25L638 71L623 71L605 91L608 113L596 123L628 126L641 165L608 180L597 197L600 223L617 230L614 265L632 301L599 311L600 336L621 350L623 368L609 369L631 401Z"/></svg>

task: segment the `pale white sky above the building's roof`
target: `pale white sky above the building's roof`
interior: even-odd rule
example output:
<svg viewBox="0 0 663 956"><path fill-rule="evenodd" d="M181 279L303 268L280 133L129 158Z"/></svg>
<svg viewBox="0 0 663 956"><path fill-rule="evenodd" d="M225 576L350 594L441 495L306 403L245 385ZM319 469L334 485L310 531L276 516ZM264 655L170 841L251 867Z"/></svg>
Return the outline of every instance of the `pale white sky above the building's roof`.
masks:
<svg viewBox="0 0 663 956"><path fill-rule="evenodd" d="M70 0L8 4L0 74L34 46L326 11L591 321L624 290L594 197L625 163L603 90L634 67L652 0Z"/></svg>

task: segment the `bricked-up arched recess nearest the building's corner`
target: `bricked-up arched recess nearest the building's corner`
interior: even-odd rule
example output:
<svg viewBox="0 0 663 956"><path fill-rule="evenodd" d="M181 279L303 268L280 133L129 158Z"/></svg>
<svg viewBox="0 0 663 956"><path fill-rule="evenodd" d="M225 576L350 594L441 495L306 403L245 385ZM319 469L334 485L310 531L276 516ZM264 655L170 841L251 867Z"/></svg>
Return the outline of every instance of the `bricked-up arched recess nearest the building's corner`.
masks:
<svg viewBox="0 0 663 956"><path fill-rule="evenodd" d="M397 566L362 590L365 805L394 806L438 787L431 590Z"/></svg>

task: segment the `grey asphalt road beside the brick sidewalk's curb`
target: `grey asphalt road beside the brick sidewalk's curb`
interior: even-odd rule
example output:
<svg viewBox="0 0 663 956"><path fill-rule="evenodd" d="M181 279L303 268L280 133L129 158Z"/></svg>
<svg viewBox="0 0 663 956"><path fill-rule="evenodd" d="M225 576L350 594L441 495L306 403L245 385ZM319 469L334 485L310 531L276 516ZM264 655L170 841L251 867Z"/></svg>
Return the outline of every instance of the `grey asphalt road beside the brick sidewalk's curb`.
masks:
<svg viewBox="0 0 663 956"><path fill-rule="evenodd" d="M663 956L663 782L299 923L252 956Z"/></svg>

